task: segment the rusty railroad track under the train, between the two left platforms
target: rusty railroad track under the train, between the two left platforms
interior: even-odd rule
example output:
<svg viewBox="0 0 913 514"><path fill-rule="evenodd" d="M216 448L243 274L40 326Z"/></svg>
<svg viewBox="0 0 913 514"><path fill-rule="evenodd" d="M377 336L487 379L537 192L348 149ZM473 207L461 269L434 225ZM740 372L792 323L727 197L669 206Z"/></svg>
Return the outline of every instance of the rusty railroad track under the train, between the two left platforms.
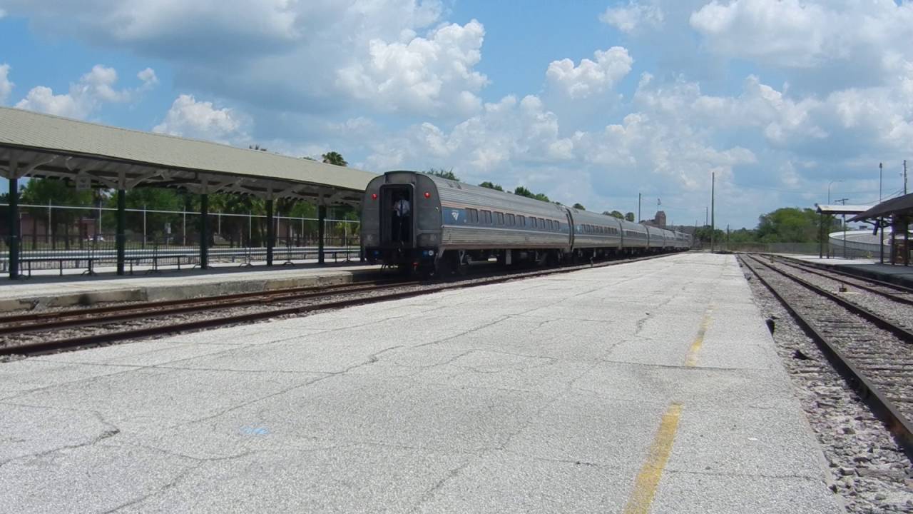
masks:
<svg viewBox="0 0 913 514"><path fill-rule="evenodd" d="M0 357L40 355L66 349L90 348L119 341L159 337L212 327L251 323L278 316L297 316L431 294L476 285L568 273L591 267L656 259L664 255L638 257L597 264L551 268L517 273L461 277L442 282L385 282L299 287L258 293L226 294L188 300L108 305L53 313L29 313L0 317ZM223 311L223 312L220 312ZM240 311L240 312L238 312ZM175 316L197 316L175 319ZM205 316L199 318L199 316ZM140 324L137 327L135 324ZM131 326L131 324L134 324ZM74 333L75 332L75 333ZM61 334L65 334L61 337ZM29 338L23 342L24 338Z"/></svg>

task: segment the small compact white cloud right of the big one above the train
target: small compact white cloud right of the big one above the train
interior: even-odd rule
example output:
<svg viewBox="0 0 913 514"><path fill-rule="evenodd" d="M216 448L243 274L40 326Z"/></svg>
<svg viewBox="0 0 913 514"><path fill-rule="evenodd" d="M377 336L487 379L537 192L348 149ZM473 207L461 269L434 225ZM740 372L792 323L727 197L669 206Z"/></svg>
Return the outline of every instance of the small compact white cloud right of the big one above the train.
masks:
<svg viewBox="0 0 913 514"><path fill-rule="evenodd" d="M595 61L581 59L576 67L571 59L553 60L545 75L551 84L572 99L582 99L611 90L631 71L634 63L627 49L622 47L596 50L593 55Z"/></svg>

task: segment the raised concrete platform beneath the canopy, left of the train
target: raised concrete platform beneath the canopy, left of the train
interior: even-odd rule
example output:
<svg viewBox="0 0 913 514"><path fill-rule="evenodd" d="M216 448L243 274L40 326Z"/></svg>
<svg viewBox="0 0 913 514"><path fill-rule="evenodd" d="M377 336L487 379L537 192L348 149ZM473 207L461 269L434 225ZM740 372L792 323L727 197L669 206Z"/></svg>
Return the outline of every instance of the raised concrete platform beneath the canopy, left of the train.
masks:
<svg viewBox="0 0 913 514"><path fill-rule="evenodd" d="M0 282L0 312L100 302L177 300L282 287L341 284L379 269L380 266L365 264L299 264L273 268L184 269L133 276L34 276Z"/></svg>

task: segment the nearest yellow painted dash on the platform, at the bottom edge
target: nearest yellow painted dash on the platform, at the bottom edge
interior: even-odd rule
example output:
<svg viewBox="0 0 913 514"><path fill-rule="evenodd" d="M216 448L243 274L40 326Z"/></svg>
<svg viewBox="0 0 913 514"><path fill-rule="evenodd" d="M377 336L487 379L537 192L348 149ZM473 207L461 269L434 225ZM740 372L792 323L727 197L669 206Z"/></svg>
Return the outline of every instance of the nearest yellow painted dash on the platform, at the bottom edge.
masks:
<svg viewBox="0 0 913 514"><path fill-rule="evenodd" d="M678 418L681 416L681 412L681 404L672 403L663 414L659 430L656 432L653 444L650 444L649 454L646 455L646 462L640 468L631 496L624 505L624 514L647 514L650 511L650 504L653 503L653 497L656 495L659 479L663 477L663 468L666 467L666 461L672 452L672 443L676 438Z"/></svg>

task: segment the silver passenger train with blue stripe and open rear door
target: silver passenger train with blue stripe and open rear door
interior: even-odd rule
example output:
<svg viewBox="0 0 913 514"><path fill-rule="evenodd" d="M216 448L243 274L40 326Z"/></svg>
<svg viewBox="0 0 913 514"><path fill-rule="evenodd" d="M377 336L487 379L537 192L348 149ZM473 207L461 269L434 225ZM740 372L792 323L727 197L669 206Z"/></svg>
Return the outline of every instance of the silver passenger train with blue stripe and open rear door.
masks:
<svg viewBox="0 0 913 514"><path fill-rule="evenodd" d="M415 171L368 183L361 239L368 262L429 274L479 261L558 265L691 248L684 232Z"/></svg>

